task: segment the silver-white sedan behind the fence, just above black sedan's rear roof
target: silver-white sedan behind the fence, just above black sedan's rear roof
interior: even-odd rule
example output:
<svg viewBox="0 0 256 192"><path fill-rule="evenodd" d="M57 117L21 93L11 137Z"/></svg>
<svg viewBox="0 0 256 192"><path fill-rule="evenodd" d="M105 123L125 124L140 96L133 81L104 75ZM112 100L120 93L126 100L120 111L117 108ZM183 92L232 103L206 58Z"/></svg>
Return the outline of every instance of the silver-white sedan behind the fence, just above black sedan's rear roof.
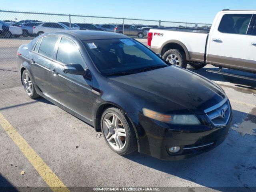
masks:
<svg viewBox="0 0 256 192"><path fill-rule="evenodd" d="M37 36L48 32L64 30L69 30L69 28L62 23L45 22L38 26L33 26L33 33Z"/></svg>

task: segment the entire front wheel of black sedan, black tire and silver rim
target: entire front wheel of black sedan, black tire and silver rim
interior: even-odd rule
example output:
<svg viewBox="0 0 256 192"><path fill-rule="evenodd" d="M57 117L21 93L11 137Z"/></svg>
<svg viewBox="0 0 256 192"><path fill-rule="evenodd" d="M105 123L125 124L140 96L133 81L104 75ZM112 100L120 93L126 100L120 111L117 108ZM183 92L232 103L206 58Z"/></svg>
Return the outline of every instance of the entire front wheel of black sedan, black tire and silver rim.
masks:
<svg viewBox="0 0 256 192"><path fill-rule="evenodd" d="M113 123L114 116L117 124ZM106 143L117 154L128 155L138 149L134 128L122 110L107 108L101 116L100 126Z"/></svg>

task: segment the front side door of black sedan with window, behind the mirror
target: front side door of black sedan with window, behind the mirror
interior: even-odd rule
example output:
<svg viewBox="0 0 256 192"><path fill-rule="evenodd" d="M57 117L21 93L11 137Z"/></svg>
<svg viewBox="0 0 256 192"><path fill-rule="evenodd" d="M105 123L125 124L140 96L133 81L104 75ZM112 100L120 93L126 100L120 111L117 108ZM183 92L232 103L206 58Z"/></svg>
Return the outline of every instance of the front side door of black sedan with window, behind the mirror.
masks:
<svg viewBox="0 0 256 192"><path fill-rule="evenodd" d="M65 64L80 64L87 68L76 43L62 37L51 66L51 97L74 112L92 119L92 82L81 75L64 73Z"/></svg>

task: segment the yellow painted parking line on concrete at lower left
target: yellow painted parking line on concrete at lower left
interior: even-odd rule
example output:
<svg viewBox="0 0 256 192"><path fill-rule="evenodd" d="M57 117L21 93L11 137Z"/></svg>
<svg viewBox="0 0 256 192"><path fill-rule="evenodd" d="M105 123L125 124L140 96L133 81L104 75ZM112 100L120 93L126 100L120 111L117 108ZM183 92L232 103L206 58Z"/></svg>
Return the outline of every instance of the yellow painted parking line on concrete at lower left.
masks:
<svg viewBox="0 0 256 192"><path fill-rule="evenodd" d="M38 171L40 176L44 179L46 184L54 192L70 192L56 174L45 164L42 158L29 146L26 140L14 129L14 127L4 118L0 113L0 125L8 133L14 143L20 148L22 153L26 156L29 162Z"/></svg>

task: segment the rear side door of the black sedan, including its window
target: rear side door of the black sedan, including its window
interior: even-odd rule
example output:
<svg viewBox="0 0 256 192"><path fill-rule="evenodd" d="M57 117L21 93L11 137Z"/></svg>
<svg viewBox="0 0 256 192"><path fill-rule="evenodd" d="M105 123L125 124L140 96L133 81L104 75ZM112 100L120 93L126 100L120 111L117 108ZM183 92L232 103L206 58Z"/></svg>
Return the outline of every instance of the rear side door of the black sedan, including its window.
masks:
<svg viewBox="0 0 256 192"><path fill-rule="evenodd" d="M50 93L50 65L57 41L57 36L42 37L30 52L30 70L36 85L44 94Z"/></svg>

